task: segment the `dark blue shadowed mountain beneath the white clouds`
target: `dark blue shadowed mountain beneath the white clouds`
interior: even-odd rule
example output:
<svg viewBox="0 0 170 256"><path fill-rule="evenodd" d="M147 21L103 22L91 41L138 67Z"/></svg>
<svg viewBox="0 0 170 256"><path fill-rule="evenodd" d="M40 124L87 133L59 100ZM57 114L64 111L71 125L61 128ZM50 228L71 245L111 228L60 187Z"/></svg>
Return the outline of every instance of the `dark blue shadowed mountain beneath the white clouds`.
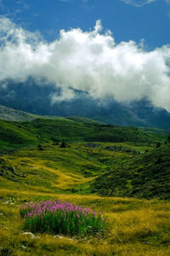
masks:
<svg viewBox="0 0 170 256"><path fill-rule="evenodd" d="M41 115L88 117L111 125L170 129L170 113L147 99L121 103L111 97L94 99L82 90L73 92L72 99L61 101L60 89L44 79L6 79L0 83L0 105Z"/></svg>

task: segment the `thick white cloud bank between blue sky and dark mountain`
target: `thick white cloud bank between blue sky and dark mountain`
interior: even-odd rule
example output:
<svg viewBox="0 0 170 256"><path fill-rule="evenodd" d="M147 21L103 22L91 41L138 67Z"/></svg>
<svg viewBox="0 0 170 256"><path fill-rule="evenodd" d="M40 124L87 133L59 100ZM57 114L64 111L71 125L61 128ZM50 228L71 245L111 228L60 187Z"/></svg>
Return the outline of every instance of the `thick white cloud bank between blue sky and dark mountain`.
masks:
<svg viewBox="0 0 170 256"><path fill-rule="evenodd" d="M111 32L80 28L60 31L54 42L0 18L0 80L44 78L62 90L52 101L71 99L74 90L94 98L131 102L143 97L170 111L170 47L145 51L133 41L116 44Z"/></svg>

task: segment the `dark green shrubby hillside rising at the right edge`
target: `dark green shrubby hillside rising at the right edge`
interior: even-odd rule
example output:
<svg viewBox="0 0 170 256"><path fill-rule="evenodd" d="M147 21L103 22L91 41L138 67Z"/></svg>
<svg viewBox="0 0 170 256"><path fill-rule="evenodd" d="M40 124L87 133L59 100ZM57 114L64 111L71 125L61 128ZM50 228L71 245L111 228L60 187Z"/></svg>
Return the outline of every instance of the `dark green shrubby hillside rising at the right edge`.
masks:
<svg viewBox="0 0 170 256"><path fill-rule="evenodd" d="M170 199L170 146L122 161L91 186L99 195Z"/></svg>

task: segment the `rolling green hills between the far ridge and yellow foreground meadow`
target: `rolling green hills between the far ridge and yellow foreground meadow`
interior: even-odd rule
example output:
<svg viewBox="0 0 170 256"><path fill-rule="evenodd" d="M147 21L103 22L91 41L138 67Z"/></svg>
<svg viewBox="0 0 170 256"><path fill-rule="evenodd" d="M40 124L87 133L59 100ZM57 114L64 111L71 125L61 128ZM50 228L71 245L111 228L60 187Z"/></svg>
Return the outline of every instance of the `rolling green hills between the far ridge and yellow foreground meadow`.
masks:
<svg viewBox="0 0 170 256"><path fill-rule="evenodd" d="M170 148L129 143L52 143L0 158L0 187L169 199Z"/></svg>

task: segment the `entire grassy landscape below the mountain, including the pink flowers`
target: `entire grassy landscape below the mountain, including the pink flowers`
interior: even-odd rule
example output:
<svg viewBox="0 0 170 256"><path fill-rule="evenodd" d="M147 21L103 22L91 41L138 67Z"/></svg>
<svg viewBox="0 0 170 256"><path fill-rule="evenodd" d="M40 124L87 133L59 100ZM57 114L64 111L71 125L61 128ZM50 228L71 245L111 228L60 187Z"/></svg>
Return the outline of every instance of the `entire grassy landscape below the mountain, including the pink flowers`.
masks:
<svg viewBox="0 0 170 256"><path fill-rule="evenodd" d="M2 255L170 255L167 131L76 118L0 127Z"/></svg>

